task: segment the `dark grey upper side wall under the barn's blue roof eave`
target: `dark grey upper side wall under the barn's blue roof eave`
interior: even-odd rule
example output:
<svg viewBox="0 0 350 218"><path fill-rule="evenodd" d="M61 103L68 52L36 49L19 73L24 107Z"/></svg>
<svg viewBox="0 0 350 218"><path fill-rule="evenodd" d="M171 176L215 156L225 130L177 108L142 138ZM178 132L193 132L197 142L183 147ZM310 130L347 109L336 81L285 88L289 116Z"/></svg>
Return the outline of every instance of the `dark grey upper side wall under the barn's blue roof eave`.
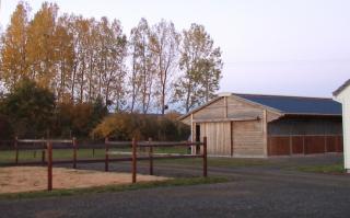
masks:
<svg viewBox="0 0 350 218"><path fill-rule="evenodd" d="M285 117L268 124L268 135L342 135L339 117Z"/></svg>

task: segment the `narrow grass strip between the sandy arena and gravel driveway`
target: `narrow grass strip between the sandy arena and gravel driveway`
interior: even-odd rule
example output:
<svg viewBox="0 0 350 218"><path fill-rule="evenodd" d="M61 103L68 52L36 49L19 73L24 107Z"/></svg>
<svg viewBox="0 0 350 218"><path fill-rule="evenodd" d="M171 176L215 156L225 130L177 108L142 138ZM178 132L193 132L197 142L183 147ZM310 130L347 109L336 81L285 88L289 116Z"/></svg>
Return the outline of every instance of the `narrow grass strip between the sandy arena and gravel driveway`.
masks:
<svg viewBox="0 0 350 218"><path fill-rule="evenodd" d="M226 177L190 177L190 179L173 179L167 181L158 182L144 182L129 185L106 185L88 188L72 188L72 190L54 190L51 192L38 191L26 193L13 193L13 194L0 194L0 199L19 199L19 198L38 198L38 197L61 197L73 196L84 194L97 194L97 193L113 193L136 191L154 187L168 187L168 186L189 186L199 184L213 184L229 182Z"/></svg>

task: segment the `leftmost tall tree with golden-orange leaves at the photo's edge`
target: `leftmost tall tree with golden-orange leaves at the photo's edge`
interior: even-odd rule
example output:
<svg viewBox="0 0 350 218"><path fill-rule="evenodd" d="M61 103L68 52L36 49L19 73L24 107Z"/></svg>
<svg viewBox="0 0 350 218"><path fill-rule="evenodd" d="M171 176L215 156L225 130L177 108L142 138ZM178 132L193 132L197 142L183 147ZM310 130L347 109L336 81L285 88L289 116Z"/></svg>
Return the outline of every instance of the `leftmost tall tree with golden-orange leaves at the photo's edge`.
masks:
<svg viewBox="0 0 350 218"><path fill-rule="evenodd" d="M27 70L28 11L30 7L20 2L11 15L10 25L1 37L0 78L9 90L13 90L25 77Z"/></svg>

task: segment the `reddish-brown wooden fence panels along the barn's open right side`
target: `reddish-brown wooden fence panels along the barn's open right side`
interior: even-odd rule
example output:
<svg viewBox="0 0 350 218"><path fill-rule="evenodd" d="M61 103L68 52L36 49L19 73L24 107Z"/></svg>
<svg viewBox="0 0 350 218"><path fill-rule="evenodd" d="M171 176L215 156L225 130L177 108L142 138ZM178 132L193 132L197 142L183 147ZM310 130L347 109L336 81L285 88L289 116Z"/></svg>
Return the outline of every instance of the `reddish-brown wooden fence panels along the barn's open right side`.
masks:
<svg viewBox="0 0 350 218"><path fill-rule="evenodd" d="M342 152L342 136L268 136L269 156L313 154L326 152Z"/></svg>

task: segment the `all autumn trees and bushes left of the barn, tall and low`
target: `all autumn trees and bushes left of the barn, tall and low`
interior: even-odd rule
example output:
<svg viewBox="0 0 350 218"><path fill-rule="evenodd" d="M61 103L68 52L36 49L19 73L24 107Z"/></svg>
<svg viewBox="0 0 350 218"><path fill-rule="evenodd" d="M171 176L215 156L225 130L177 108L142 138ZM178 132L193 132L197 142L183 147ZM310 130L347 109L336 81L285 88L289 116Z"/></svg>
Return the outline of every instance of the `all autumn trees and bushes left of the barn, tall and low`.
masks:
<svg viewBox="0 0 350 218"><path fill-rule="evenodd" d="M3 137L184 139L188 127L168 111L219 90L221 50L202 25L180 32L141 19L127 35L116 19L59 13L56 3L31 12L20 1L1 33Z"/></svg>

